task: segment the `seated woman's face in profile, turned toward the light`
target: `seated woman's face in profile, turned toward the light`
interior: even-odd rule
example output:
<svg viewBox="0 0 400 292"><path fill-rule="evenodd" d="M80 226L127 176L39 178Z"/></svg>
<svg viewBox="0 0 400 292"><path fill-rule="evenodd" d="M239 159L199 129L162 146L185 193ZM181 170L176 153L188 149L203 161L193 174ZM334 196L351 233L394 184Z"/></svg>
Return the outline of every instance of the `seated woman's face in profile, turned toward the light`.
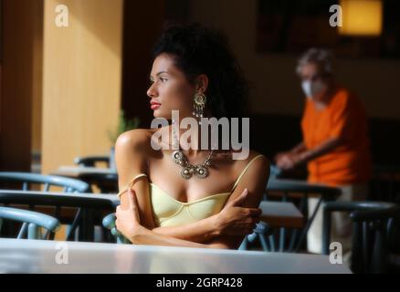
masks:
<svg viewBox="0 0 400 292"><path fill-rule="evenodd" d="M192 116L195 85L174 65L174 57L161 54L153 61L152 85L147 90L155 118L171 119L172 110L179 110L180 119Z"/></svg>

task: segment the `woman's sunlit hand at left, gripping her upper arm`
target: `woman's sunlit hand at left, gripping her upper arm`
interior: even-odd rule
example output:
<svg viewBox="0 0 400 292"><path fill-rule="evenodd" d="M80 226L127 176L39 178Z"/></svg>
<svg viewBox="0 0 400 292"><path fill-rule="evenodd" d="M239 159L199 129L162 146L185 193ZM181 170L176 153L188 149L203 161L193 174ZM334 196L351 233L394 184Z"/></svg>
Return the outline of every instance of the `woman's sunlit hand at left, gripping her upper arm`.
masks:
<svg viewBox="0 0 400 292"><path fill-rule="evenodd" d="M122 209L121 205L117 207L115 225L122 235L132 241L132 238L138 235L144 227L141 225L136 193L132 188L129 188L127 195L129 202L128 209Z"/></svg>

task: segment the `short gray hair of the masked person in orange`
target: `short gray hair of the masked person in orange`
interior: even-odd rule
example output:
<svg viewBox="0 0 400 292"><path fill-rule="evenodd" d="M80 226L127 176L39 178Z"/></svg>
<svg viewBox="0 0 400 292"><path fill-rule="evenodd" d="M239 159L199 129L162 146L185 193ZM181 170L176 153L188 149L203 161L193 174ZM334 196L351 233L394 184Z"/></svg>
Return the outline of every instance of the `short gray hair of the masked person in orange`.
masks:
<svg viewBox="0 0 400 292"><path fill-rule="evenodd" d="M332 75L332 53L330 50L311 47L299 58L296 72L300 74L301 68L307 63L320 64L324 74Z"/></svg>

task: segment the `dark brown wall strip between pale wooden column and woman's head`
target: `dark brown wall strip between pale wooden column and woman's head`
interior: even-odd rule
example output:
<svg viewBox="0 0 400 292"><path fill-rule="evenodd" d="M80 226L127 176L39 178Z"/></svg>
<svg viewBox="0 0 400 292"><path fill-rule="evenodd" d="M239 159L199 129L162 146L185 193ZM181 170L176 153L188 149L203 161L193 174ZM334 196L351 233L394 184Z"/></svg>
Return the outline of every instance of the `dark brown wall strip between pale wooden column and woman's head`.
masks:
<svg viewBox="0 0 400 292"><path fill-rule="evenodd" d="M124 1L121 109L128 118L139 117L142 127L153 119L146 95L153 65L152 48L165 19L165 1Z"/></svg>

